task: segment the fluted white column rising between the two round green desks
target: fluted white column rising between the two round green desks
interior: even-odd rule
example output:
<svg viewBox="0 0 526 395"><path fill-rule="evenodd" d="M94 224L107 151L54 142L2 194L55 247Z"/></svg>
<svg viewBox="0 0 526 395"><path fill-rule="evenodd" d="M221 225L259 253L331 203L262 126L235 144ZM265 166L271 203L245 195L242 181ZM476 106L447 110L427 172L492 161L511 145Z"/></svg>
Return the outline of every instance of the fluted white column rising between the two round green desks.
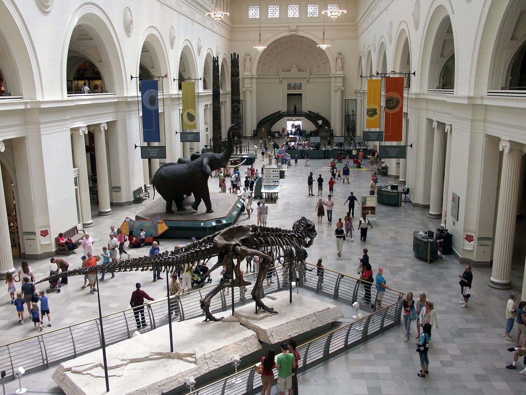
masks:
<svg viewBox="0 0 526 395"><path fill-rule="evenodd" d="M431 196L429 203L429 218L441 218L442 193L444 189L444 149L446 148L446 125L433 121L434 145L433 164L431 169Z"/></svg>

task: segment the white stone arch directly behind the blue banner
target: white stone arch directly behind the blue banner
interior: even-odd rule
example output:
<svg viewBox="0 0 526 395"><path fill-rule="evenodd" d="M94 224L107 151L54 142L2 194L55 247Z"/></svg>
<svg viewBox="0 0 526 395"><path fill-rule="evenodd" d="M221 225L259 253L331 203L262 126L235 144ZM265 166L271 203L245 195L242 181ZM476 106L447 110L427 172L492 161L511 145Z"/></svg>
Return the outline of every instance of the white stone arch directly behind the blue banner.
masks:
<svg viewBox="0 0 526 395"><path fill-rule="evenodd" d="M149 75L168 75L163 81L163 85L159 84L159 91L163 90L169 93L171 80L171 68L163 37L159 30L154 26L149 26L141 36L141 50L138 53L137 68L135 72L146 79L142 71L147 71ZM157 79L157 78L156 78Z"/></svg>

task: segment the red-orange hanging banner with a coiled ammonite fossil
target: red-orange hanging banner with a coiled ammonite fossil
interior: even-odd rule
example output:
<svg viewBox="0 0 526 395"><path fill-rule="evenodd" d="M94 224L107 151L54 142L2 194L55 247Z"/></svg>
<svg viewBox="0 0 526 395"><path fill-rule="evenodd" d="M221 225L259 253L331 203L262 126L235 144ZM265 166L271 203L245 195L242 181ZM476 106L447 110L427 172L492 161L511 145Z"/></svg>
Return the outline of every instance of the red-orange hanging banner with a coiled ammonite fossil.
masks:
<svg viewBox="0 0 526 395"><path fill-rule="evenodd" d="M386 78L385 133L383 141L402 141L404 77Z"/></svg>

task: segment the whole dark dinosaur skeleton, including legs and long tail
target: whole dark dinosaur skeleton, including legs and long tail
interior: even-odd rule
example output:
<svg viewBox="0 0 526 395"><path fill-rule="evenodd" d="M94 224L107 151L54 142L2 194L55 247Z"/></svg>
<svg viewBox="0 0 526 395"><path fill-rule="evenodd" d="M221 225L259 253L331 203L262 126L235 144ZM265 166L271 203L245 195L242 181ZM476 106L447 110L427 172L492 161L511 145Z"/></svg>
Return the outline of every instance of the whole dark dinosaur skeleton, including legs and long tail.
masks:
<svg viewBox="0 0 526 395"><path fill-rule="evenodd" d="M163 272L167 274L177 273L184 265L194 265L201 260L209 260L217 256L217 263L205 275L223 265L226 266L225 274L216 287L208 292L205 298L201 299L201 308L205 311L205 320L220 321L221 319L215 318L210 313L211 299L222 289L230 287L232 283L235 287L250 285L251 283L245 281L241 276L240 263L247 256L257 255L261 261L258 276L251 292L252 300L256 302L259 309L277 314L277 311L267 307L261 301L262 285L267 271L274 268L275 260L280 260L281 257L293 264L292 270L295 270L297 264L305 265L302 249L310 247L316 235L314 223L305 217L295 221L292 230L257 225L233 225L203 239L176 247L173 251L162 252L158 256L143 256L120 262L97 264L89 268L73 269L50 275L36 282L36 284L64 276L102 273L103 271L151 271L156 266L162 267ZM237 261L236 264L234 264L234 260ZM232 270L235 274L234 279L231 278Z"/></svg>

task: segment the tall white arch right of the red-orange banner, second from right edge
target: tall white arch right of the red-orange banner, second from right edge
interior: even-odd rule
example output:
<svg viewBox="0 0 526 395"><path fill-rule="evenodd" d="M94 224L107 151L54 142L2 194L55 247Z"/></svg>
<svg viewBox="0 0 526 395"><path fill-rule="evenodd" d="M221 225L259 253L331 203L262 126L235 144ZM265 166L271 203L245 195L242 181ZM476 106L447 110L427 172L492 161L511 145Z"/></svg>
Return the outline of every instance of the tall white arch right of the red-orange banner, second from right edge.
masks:
<svg viewBox="0 0 526 395"><path fill-rule="evenodd" d="M437 1L430 8L424 28L424 39L420 47L419 85L422 92L428 89L454 88L456 73L456 41L450 18L452 10L449 2ZM449 61L449 63L448 63ZM450 71L453 86L445 85L444 72Z"/></svg>

